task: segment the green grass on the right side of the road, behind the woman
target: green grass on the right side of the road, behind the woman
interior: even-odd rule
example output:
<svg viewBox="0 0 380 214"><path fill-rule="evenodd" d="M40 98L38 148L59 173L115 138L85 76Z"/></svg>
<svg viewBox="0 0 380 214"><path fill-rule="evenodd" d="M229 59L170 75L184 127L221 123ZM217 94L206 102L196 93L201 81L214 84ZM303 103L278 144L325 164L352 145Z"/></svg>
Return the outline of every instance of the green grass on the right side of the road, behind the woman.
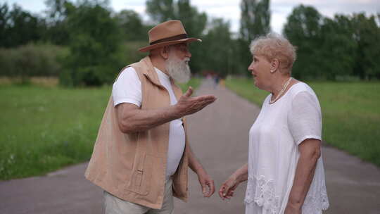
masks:
<svg viewBox="0 0 380 214"><path fill-rule="evenodd" d="M380 166L380 82L307 82L322 107L327 144ZM232 78L227 87L261 106L268 92L251 79Z"/></svg>

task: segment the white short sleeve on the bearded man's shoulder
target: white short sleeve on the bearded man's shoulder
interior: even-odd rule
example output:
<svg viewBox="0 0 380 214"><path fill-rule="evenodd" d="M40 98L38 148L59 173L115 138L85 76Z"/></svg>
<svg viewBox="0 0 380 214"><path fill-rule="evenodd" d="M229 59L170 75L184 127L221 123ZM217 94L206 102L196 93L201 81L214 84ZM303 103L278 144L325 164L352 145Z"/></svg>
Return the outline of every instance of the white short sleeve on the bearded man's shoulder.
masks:
<svg viewBox="0 0 380 214"><path fill-rule="evenodd" d="M132 103L141 106L141 82L134 68L128 67L122 70L118 80L113 84L112 98L114 106L120 103Z"/></svg>

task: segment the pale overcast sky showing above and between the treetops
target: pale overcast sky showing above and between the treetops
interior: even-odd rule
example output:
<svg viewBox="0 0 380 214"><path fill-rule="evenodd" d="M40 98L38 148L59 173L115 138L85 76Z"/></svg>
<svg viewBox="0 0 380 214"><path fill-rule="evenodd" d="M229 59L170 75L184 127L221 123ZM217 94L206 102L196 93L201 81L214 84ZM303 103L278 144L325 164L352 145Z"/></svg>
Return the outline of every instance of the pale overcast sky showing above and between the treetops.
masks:
<svg viewBox="0 0 380 214"><path fill-rule="evenodd" d="M16 3L33 13L42 13L46 9L44 0L0 0L0 2ZM196 6L198 11L205 11L211 17L230 20L234 32L239 31L239 4L239 0L191 0L191 5ZM336 13L365 12L367 15L380 13L380 0L272 0L270 1L271 27L274 32L281 33L286 17L293 7L299 4L314 6L319 13L331 18ZM110 5L115 11L132 9L140 13L144 20L148 20L144 0L110 0Z"/></svg>

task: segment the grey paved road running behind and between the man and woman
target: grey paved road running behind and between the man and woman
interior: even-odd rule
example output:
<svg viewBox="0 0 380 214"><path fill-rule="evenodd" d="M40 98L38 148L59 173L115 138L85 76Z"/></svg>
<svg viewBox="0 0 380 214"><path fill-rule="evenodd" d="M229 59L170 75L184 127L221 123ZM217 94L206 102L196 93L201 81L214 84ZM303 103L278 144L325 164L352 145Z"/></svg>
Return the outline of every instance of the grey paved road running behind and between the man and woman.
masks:
<svg viewBox="0 0 380 214"><path fill-rule="evenodd" d="M189 117L189 138L196 156L217 188L236 168L248 160L248 130L259 108L224 88L204 82L197 94L215 94L218 99ZM380 169L331 147L323 148L328 214L379 214ZM75 165L44 177L0 182L0 213L101 213L102 191L87 180L87 163ZM244 213L242 184L237 196L222 201L217 194L201 196L197 177L189 172L189 202L175 201L175 214Z"/></svg>

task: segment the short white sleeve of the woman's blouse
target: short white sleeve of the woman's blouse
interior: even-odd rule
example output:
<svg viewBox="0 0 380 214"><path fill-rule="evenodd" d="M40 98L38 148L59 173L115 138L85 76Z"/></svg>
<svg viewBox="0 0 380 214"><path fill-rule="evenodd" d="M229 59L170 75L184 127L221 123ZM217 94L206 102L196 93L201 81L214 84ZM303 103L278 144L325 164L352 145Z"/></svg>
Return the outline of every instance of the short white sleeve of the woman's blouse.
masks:
<svg viewBox="0 0 380 214"><path fill-rule="evenodd" d="M321 109L315 94L305 91L293 97L288 125L297 145L305 139L322 139Z"/></svg>

